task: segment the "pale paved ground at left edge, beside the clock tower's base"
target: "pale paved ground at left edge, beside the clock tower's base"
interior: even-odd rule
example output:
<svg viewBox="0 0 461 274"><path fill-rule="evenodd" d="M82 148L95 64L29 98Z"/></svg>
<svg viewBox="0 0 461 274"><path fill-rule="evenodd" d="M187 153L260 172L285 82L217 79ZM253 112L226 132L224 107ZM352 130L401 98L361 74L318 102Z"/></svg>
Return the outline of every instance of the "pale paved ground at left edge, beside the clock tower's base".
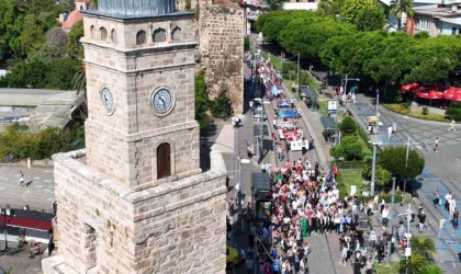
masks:
<svg viewBox="0 0 461 274"><path fill-rule="evenodd" d="M19 185L20 171L24 173L27 187ZM0 165L0 206L9 205L13 208L23 208L52 212L55 202L55 184L53 167Z"/></svg>

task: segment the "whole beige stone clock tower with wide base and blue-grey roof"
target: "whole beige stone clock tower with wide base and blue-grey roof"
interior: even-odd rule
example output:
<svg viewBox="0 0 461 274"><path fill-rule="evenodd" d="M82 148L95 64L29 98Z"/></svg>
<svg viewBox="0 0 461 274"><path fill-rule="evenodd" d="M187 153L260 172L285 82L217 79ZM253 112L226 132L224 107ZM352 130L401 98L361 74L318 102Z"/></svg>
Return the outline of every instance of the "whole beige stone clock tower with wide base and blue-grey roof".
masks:
<svg viewBox="0 0 461 274"><path fill-rule="evenodd" d="M83 12L86 150L54 156L45 273L224 273L225 167L200 169L193 14L175 0Z"/></svg>

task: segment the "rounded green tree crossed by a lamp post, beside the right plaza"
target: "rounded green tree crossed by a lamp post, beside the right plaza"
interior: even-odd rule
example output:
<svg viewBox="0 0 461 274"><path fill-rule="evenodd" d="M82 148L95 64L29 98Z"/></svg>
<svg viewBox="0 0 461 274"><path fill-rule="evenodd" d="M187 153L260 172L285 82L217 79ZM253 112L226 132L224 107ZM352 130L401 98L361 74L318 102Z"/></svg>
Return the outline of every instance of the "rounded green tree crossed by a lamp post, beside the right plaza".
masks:
<svg viewBox="0 0 461 274"><path fill-rule="evenodd" d="M415 149L408 151L408 167L406 164L406 147L386 147L382 150L379 163L393 175L415 178L423 172L425 160Z"/></svg>

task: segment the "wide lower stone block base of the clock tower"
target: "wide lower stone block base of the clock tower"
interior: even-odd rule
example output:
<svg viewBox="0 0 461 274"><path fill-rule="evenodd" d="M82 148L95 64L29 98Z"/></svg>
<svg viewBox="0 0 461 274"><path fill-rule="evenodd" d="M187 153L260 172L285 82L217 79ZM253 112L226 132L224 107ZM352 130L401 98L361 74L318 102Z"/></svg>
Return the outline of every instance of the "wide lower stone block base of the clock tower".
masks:
<svg viewBox="0 0 461 274"><path fill-rule="evenodd" d="M225 273L226 171L218 151L211 159L207 172L132 191L89 168L85 150L56 155L58 267Z"/></svg>

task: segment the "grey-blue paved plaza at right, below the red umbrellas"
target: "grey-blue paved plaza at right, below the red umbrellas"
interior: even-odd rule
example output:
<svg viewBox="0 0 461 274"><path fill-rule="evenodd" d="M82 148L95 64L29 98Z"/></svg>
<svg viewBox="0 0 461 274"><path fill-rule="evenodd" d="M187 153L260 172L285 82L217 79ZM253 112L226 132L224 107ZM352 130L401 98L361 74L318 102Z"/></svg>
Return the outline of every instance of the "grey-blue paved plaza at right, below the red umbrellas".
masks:
<svg viewBox="0 0 461 274"><path fill-rule="evenodd" d="M366 128L367 116L375 114L375 106L372 100L363 94L357 94L358 103L351 110L359 124ZM454 230L449 222L448 212L432 205L432 193L439 189L442 197L451 191L454 198L460 201L461 187L458 185L461 176L461 127L457 125L456 132L449 132L448 123L421 121L413 117L395 114L380 106L380 119L384 123L380 132L380 138L384 142L405 145L409 137L412 147L418 149L425 157L426 167L423 174L412 183L418 187L418 198L414 198L416 205L423 204L427 215L427 227L424 235L431 238L437 248L436 261L442 266L446 273L461 273L461 231ZM386 126L393 122L397 123L397 135L387 140ZM434 140L439 137L439 151L434 152ZM405 207L396 206L397 214L402 214ZM413 206L415 209L415 206ZM403 220L404 216L391 220L393 225ZM439 235L439 220L447 220ZM378 221L378 220L376 220ZM418 235L416 222L412 222L413 235Z"/></svg>

